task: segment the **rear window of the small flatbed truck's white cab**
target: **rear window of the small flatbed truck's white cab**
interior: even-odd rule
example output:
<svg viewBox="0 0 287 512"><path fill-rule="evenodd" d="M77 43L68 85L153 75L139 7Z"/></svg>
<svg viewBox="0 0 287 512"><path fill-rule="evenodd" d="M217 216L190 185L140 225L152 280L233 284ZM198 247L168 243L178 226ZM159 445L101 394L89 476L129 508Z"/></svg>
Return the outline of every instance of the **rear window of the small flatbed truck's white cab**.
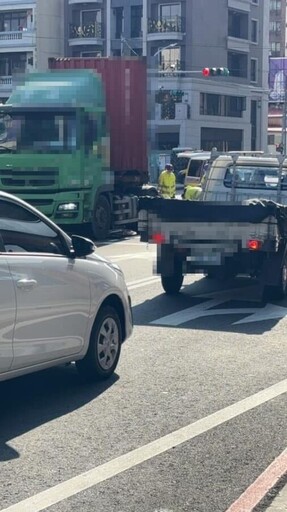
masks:
<svg viewBox="0 0 287 512"><path fill-rule="evenodd" d="M233 167L229 167L224 178L224 185L235 188L255 188L255 189L272 189L279 186L279 168L278 167L251 167L237 166L235 176L233 176ZM287 189L287 173L283 170L281 175L281 188Z"/></svg>

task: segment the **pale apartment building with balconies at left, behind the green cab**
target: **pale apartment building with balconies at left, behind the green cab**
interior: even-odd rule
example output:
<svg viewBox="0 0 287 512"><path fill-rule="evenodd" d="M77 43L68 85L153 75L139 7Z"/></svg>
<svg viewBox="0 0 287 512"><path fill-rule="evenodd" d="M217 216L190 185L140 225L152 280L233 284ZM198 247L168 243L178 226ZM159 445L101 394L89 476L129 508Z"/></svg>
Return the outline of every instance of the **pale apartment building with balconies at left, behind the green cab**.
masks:
<svg viewBox="0 0 287 512"><path fill-rule="evenodd" d="M0 0L0 102L23 73L64 54L66 0Z"/></svg>

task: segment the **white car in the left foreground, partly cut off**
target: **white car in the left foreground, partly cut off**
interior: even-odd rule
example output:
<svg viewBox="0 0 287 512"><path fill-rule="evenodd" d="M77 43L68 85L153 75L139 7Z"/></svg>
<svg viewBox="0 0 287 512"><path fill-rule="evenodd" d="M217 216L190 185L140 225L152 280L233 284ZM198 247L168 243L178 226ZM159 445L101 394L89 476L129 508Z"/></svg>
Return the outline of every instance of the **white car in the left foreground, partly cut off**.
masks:
<svg viewBox="0 0 287 512"><path fill-rule="evenodd" d="M131 333L120 268L0 192L0 381L72 361L105 379Z"/></svg>

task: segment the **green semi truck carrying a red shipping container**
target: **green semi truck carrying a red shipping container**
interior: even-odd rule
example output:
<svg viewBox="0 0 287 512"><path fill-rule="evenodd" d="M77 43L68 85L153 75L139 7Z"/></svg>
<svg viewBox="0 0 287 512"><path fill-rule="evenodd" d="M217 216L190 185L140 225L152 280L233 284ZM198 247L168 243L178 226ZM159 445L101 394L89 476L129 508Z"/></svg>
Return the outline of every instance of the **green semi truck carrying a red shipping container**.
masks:
<svg viewBox="0 0 287 512"><path fill-rule="evenodd" d="M96 239L135 226L148 185L141 58L53 58L0 108L0 186Z"/></svg>

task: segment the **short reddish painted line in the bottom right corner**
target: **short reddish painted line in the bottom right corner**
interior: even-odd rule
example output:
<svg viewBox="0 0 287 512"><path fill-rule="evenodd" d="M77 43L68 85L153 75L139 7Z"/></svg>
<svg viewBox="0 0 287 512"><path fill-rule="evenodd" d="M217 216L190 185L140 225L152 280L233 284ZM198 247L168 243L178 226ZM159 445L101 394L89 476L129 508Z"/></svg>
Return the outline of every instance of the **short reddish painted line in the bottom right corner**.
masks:
<svg viewBox="0 0 287 512"><path fill-rule="evenodd" d="M226 512L252 512L287 471L287 449L251 484ZM285 504L286 505L286 504ZM287 507L286 507L287 508ZM284 510L286 510L286 508ZM282 509L283 511L283 509Z"/></svg>

